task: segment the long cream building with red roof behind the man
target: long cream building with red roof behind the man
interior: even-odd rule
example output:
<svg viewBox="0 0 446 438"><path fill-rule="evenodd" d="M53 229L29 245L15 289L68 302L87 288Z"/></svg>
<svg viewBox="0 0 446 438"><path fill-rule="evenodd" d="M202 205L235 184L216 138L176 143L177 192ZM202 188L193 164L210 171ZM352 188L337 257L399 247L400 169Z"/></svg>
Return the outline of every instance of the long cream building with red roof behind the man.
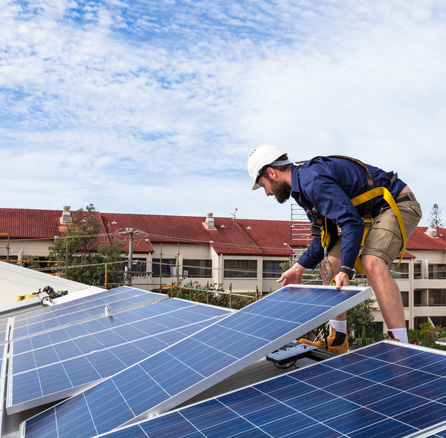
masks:
<svg viewBox="0 0 446 438"><path fill-rule="evenodd" d="M0 260L18 262L37 256L42 262L54 240L70 223L64 210L0 209ZM95 212L104 238L127 242L131 278L136 287L160 290L169 285L215 285L234 293L269 293L284 262L311 242L308 222ZM131 236L131 239L130 239ZM395 261L395 264L397 261ZM418 227L410 236L397 281L408 328L422 322L446 326L446 229ZM310 280L311 281L311 280ZM1 293L1 291L0 291ZM386 331L379 310L376 329Z"/></svg>

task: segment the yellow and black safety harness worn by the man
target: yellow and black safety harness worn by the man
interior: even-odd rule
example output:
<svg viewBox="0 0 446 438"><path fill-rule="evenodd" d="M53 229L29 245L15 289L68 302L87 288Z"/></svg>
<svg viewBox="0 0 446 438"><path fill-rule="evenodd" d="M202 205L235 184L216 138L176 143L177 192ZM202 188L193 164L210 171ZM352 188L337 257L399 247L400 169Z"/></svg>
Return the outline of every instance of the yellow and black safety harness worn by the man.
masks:
<svg viewBox="0 0 446 438"><path fill-rule="evenodd" d="M400 213L400 210L395 202L395 199L393 198L392 194L386 187L373 188L373 178L370 174L370 171L367 168L367 166L364 163L362 163L361 161L359 161L355 158L345 157L345 156L341 156L341 155L330 155L328 158L343 158L346 160L353 161L354 163L356 163L356 164L360 165L362 168L364 168L365 171L367 172L367 191L364 193L361 193L360 195L358 195L350 200L354 207L357 207L358 205L361 205L361 204L366 204L364 207L364 209L365 209L364 215L362 217L362 220L364 221L364 233L362 235L361 248L365 245L365 242L366 242L367 237L370 232L370 228L373 225L373 219L372 219L373 199L377 198L378 196L382 196L383 199L389 204L392 211L395 213L395 216L398 221L398 225L400 227L401 237L403 239L403 249L401 251L401 257L398 262L398 265L394 269L394 271L395 271L398 268L398 266L400 265L401 260L403 259L404 252L406 251L406 243L407 243L406 228L404 226L403 218L401 217L401 213ZM305 163L305 161L299 162L299 163ZM299 169L299 173L300 173L300 169ZM395 174L395 179L396 179L396 177L397 177L397 174ZM328 278L332 277L334 280L333 269L331 268L331 263L328 261L328 247L330 244L331 236L328 231L327 218L322 216L316 210L316 208L314 208L314 207L309 208L308 206L305 207L306 201L303 201L303 199L301 199L301 201L302 201L302 205L304 206L304 208L306 210L307 216L311 221L312 234L318 235L321 238L321 245L324 248L324 260L321 263L321 267L324 272L325 278L328 279ZM327 266L329 267L331 273L327 269ZM359 257L356 258L355 268L360 274L364 275L364 268L362 266L362 262ZM392 271L392 272L394 272L394 271ZM331 281L330 284L333 283L333 280Z"/></svg>

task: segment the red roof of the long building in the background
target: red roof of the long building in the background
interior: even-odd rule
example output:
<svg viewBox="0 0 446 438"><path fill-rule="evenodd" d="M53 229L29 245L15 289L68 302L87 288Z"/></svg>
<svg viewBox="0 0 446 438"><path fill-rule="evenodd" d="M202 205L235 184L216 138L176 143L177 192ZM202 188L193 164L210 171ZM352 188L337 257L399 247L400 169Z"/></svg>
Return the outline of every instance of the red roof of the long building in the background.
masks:
<svg viewBox="0 0 446 438"><path fill-rule="evenodd" d="M134 252L153 252L153 243L210 244L217 254L290 255L290 246L305 248L311 241L308 222L306 236L292 238L292 221L214 218L215 229L204 226L205 217L96 212L102 220L102 234L115 233L128 242L128 229L134 230ZM26 210L0 208L0 233L11 239L50 239L59 235L62 210ZM413 250L446 250L446 229L438 228L438 237L418 227L407 242L405 258ZM304 234L305 234L304 233ZM105 237L104 237L105 238ZM128 243L125 250L128 250Z"/></svg>

